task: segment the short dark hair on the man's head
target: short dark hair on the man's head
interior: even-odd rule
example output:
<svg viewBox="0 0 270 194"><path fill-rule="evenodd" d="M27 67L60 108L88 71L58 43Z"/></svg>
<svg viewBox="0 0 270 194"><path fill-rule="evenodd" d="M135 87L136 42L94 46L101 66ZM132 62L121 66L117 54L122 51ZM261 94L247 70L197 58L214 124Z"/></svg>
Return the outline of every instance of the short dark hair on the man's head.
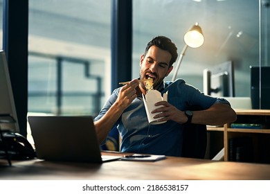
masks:
<svg viewBox="0 0 270 194"><path fill-rule="evenodd" d="M157 46L162 50L168 51L172 55L169 67L171 67L172 64L177 60L177 46L172 42L170 38L165 36L154 37L150 42L147 43L145 48L145 55L151 46Z"/></svg>

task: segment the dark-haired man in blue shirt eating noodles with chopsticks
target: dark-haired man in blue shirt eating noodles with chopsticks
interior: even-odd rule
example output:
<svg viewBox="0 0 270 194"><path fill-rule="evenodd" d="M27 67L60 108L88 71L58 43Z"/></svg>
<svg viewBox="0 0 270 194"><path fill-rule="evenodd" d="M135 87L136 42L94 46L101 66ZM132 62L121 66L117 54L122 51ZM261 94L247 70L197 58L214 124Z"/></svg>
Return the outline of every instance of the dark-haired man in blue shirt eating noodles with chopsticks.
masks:
<svg viewBox="0 0 270 194"><path fill-rule="evenodd" d="M115 89L100 114L94 119L98 140L104 142L113 127L122 138L121 152L148 153L153 155L181 156L183 123L223 125L233 122L236 114L223 98L205 96L187 85L184 80L164 82L177 60L177 47L168 37L154 37L146 46L140 60L140 78ZM152 78L154 89L164 94L168 102L160 101L152 110L159 112L154 118L167 121L150 125L147 121L142 95L146 94L145 80ZM190 112L191 107L203 110Z"/></svg>

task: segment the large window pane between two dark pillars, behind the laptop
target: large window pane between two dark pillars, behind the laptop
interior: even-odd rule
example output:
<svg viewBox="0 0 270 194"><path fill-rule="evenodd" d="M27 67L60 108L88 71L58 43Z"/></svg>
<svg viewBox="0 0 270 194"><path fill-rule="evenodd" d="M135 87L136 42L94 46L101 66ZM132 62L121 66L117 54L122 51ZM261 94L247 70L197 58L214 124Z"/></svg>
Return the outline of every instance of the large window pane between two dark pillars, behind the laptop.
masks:
<svg viewBox="0 0 270 194"><path fill-rule="evenodd" d="M29 0L28 112L96 116L110 89L111 1Z"/></svg>

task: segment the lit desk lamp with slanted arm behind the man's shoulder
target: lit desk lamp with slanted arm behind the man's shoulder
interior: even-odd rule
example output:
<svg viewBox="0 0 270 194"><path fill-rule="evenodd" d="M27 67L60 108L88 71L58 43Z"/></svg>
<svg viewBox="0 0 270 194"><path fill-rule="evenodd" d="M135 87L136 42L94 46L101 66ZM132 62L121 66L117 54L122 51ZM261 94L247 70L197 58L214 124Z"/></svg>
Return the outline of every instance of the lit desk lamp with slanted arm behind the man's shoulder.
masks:
<svg viewBox="0 0 270 194"><path fill-rule="evenodd" d="M183 50L177 60L177 66L176 69L174 70L172 81L174 81L175 78L177 77L177 72L182 62L183 55L185 55L188 46L190 46L191 48L198 48L199 46L204 44L204 35L202 34L201 27L197 22L194 26L190 28L190 30L188 30L188 32L186 32L186 34L183 36L183 40L185 42L185 46L183 46Z"/></svg>

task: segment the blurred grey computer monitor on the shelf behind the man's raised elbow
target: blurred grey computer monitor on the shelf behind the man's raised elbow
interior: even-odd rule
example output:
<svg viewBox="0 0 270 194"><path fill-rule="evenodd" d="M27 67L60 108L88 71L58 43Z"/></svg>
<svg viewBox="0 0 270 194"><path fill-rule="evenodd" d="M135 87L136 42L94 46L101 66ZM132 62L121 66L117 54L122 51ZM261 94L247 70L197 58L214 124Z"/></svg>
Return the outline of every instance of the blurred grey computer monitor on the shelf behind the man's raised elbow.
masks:
<svg viewBox="0 0 270 194"><path fill-rule="evenodd" d="M233 62L228 61L204 69L204 94L210 96L235 96Z"/></svg>

